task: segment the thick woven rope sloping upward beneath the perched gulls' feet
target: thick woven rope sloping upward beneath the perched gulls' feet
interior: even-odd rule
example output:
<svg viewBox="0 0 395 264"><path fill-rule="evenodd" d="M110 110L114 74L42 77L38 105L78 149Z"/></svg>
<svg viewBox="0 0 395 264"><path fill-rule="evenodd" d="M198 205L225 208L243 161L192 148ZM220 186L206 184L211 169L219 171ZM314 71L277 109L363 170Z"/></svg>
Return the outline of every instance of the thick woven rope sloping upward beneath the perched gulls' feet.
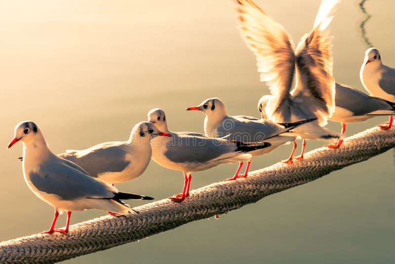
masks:
<svg viewBox="0 0 395 264"><path fill-rule="evenodd" d="M338 149L319 148L292 165L277 163L247 178L192 191L178 204L164 199L137 208L140 214L101 217L72 225L68 234L35 234L0 243L0 263L53 263L151 236L182 224L227 213L265 196L301 185L395 147L395 129L369 129Z"/></svg>

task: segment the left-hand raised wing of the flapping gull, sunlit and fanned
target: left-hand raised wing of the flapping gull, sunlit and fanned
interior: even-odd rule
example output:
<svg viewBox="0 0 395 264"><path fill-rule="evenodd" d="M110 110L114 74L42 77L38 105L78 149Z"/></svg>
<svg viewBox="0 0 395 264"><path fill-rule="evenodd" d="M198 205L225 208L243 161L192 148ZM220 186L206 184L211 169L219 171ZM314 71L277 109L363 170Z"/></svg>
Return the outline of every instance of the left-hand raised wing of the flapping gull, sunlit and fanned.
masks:
<svg viewBox="0 0 395 264"><path fill-rule="evenodd" d="M266 107L268 116L289 111L289 92L295 71L295 50L291 37L281 24L252 0L238 0L237 13L238 28L245 43L256 55L261 81L266 82L273 94Z"/></svg>

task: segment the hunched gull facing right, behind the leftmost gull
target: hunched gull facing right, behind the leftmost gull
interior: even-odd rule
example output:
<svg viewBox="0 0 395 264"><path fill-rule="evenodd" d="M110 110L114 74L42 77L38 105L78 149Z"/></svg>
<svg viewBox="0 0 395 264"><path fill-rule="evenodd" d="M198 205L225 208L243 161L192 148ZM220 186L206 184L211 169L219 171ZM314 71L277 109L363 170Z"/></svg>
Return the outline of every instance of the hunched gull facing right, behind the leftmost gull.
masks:
<svg viewBox="0 0 395 264"><path fill-rule="evenodd" d="M90 176L107 183L134 179L144 173L151 160L151 139L170 136L150 122L137 123L127 141L105 142L84 150L66 150L58 157L76 163Z"/></svg>

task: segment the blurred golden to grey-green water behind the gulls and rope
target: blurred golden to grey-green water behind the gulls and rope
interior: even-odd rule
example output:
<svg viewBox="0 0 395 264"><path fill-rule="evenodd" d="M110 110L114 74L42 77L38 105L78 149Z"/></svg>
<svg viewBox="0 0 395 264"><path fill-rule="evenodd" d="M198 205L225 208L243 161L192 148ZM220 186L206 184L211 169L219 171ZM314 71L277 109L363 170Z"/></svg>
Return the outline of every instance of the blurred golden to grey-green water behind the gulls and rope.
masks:
<svg viewBox="0 0 395 264"><path fill-rule="evenodd" d="M295 43L310 31L319 0L257 0ZM344 0L330 26L337 82L363 90L368 48L357 0ZM393 0L368 0L366 37L395 66ZM122 140L154 107L173 131L203 132L204 115L185 108L220 97L230 115L259 116L269 93L236 28L232 0L0 0L0 241L47 230L53 208L27 187L15 125L39 124L55 153ZM352 98L350 98L352 99ZM347 126L347 135L387 120ZM339 131L340 124L328 128ZM300 142L300 141L299 141ZM327 142L308 141L307 151ZM251 170L288 157L290 145L253 159ZM297 153L299 154L300 148ZM191 189L233 176L237 164L195 173ZM68 263L393 263L394 151L271 195L256 204L79 257ZM151 162L121 191L163 199L180 192L181 172ZM131 205L139 203L131 202ZM74 212L71 223L105 215ZM65 215L58 219L64 226Z"/></svg>

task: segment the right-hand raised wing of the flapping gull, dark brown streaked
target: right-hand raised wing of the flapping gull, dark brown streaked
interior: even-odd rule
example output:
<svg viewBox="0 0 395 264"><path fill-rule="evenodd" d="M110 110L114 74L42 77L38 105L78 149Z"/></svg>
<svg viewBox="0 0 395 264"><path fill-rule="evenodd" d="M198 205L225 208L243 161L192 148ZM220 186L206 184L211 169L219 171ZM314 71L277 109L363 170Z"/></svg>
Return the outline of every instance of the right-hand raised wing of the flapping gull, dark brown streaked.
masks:
<svg viewBox="0 0 395 264"><path fill-rule="evenodd" d="M313 30L296 47L296 87L291 94L306 113L316 115L320 126L326 125L335 110L332 38L326 29L339 2L321 0Z"/></svg>

